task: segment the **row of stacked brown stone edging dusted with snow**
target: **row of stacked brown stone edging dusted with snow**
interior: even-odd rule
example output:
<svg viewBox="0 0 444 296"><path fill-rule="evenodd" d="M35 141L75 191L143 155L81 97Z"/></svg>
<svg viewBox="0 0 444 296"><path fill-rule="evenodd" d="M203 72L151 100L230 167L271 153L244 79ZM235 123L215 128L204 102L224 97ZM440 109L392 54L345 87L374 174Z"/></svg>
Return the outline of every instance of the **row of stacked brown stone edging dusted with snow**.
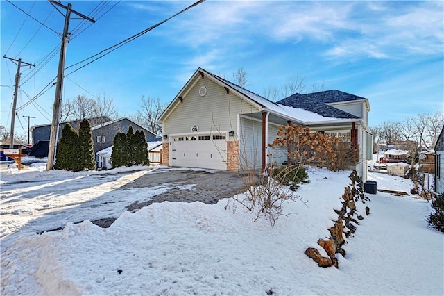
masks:
<svg viewBox="0 0 444 296"><path fill-rule="evenodd" d="M352 183L345 187L345 192L342 195L342 208L340 210L334 209L338 214L338 219L334 222L334 226L328 229L330 231L330 238L327 240L318 240L318 245L325 249L328 257L322 256L318 249L309 247L305 250L305 254L312 258L318 266L327 268L334 266L338 268L338 259L336 253L345 256L345 250L342 246L345 244L345 238L349 238L357 229L359 225L358 220L363 220L364 217L357 213L356 202L361 200L363 204L370 199L364 194L364 184L361 178L357 176L356 171L350 174ZM370 208L366 206L366 215L370 214Z"/></svg>

